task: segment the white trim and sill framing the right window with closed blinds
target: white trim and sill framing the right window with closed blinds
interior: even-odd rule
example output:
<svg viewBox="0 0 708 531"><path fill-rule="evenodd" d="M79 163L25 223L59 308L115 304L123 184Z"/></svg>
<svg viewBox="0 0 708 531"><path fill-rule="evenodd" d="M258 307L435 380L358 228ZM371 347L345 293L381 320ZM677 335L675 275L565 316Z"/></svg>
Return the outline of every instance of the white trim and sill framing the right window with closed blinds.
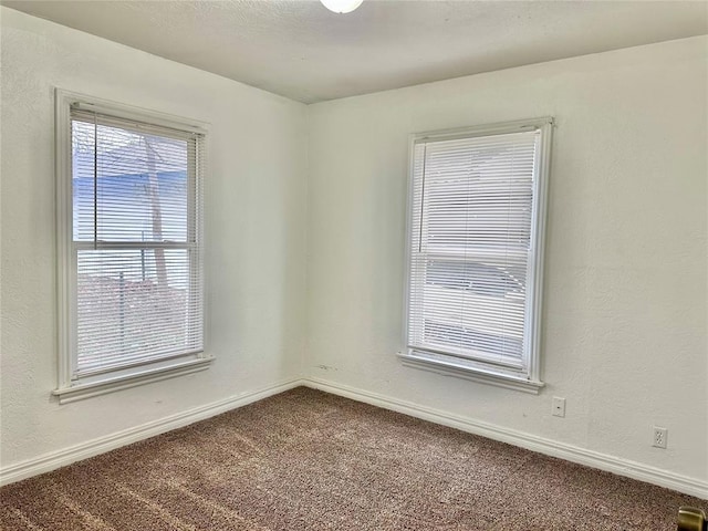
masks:
<svg viewBox="0 0 708 531"><path fill-rule="evenodd" d="M541 312L543 293L543 259L545 248L545 220L548 181L551 165L551 143L554 121L552 117L521 119L504 122L477 127L464 127L446 131L435 131L410 135L408 144L408 196L406 216L406 274L404 287L404 345L405 352L398 353L404 366L420 368L448 376L471 379L499 387L538 394L545 385L541 381ZM521 131L538 129L541 133L541 149L535 162L537 180L533 186L534 201L531 217L531 256L529 257L529 270L531 285L527 304L528 312L529 353L528 371L513 371L494 368L491 364L456 362L450 357L435 360L430 353L410 348L408 343L408 319L412 272L410 231L413 223L413 191L414 191L414 148L415 144L427 139L454 139L472 136L487 136L492 134L517 133Z"/></svg>

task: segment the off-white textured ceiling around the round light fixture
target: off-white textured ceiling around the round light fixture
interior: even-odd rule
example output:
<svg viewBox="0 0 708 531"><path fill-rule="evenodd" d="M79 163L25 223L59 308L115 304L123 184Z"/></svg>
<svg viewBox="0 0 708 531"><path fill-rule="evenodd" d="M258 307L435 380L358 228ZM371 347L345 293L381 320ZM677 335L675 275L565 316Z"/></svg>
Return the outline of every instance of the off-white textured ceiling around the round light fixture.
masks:
<svg viewBox="0 0 708 531"><path fill-rule="evenodd" d="M704 1L17 1L304 103L708 33Z"/></svg>

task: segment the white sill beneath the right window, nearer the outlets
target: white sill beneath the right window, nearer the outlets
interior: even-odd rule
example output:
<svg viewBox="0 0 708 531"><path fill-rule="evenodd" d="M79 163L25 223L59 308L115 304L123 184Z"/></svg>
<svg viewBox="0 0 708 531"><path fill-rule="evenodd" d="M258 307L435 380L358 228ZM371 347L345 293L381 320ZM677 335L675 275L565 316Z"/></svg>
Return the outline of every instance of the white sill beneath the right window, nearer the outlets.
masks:
<svg viewBox="0 0 708 531"><path fill-rule="evenodd" d="M533 395L538 395L545 385L543 382L532 381L523 376L497 373L491 369L466 367L454 362L430 360L415 353L399 353L398 357L406 367L420 368L445 376L456 376L458 378L496 385L497 387L504 387L507 389L522 391Z"/></svg>

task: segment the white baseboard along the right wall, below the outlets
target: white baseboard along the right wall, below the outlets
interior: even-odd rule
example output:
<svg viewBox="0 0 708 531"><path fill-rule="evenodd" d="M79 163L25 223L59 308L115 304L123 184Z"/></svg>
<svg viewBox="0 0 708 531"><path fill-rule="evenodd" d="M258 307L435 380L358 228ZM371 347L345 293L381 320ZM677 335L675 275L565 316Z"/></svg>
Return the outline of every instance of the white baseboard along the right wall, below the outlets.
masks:
<svg viewBox="0 0 708 531"><path fill-rule="evenodd" d="M601 454L598 451L586 450L535 435L524 434L523 431L494 426L492 424L473 420L459 415L452 415L440 409L420 406L412 402L399 400L389 396L335 384L320 378L308 378L303 381L303 384L308 387L324 391L325 393L344 396L357 402L403 413L412 417L449 426L470 434L481 435L482 437L508 442L546 456L558 457L565 459L566 461L577 462L587 467L606 470L618 476L646 481L647 483L665 487L697 498L708 499L708 481L680 476L678 473L660 470L641 462L610 456L607 454Z"/></svg>

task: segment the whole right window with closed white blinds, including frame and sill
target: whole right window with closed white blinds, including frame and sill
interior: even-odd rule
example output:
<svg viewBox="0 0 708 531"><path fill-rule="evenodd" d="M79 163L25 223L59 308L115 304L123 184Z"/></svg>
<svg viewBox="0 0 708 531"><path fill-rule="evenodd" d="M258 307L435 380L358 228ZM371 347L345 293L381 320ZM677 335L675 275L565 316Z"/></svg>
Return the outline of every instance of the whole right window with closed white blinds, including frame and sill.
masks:
<svg viewBox="0 0 708 531"><path fill-rule="evenodd" d="M532 393L552 121L417 135L406 365Z"/></svg>

